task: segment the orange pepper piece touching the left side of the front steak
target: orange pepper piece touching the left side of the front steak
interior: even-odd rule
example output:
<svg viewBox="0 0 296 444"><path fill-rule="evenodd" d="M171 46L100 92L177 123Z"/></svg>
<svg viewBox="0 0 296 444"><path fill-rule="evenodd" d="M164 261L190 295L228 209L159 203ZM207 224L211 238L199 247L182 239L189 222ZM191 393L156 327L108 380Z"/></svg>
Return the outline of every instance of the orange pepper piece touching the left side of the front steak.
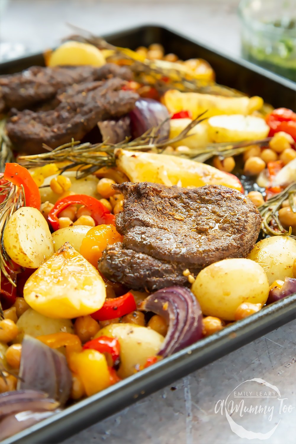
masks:
<svg viewBox="0 0 296 444"><path fill-rule="evenodd" d="M80 254L97 268L98 260L102 257L103 250L107 245L121 241L122 236L116 231L114 225L98 225L91 228L84 236Z"/></svg>

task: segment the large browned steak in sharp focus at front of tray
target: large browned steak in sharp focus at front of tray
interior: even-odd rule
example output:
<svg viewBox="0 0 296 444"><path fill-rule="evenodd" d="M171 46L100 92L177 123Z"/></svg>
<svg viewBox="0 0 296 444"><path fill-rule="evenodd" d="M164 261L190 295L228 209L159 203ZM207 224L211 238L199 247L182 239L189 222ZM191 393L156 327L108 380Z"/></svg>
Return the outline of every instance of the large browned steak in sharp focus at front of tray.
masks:
<svg viewBox="0 0 296 444"><path fill-rule="evenodd" d="M246 257L260 232L257 208L225 186L190 190L125 182L114 187L125 198L116 216L124 237L107 247L99 270L133 289L189 285L183 271L196 275L221 259Z"/></svg>

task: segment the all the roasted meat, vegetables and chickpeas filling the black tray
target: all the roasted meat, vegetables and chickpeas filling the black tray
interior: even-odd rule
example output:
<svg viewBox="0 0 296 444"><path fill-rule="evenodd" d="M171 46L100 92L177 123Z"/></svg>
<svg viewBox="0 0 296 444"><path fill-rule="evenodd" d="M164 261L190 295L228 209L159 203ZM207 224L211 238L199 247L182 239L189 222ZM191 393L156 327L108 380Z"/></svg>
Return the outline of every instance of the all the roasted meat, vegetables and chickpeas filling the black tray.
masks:
<svg viewBox="0 0 296 444"><path fill-rule="evenodd" d="M1 438L296 293L295 113L80 40L0 77Z"/></svg>

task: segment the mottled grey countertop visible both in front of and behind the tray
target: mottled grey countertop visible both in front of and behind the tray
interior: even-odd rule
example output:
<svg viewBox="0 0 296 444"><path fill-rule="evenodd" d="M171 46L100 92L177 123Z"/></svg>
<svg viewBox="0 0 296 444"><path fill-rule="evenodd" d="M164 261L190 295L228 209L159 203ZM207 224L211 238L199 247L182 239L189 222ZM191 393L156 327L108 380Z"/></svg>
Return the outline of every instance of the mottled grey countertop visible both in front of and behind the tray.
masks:
<svg viewBox="0 0 296 444"><path fill-rule="evenodd" d="M1 6L4 1L0 0ZM69 33L66 22L96 34L137 24L165 24L237 56L237 4L237 0L11 0L0 16L1 56L5 52L7 56L7 50L13 57L58 43ZM284 402L294 408L280 414L275 405L270 421L260 414L245 414L244 427L266 432L280 421L265 442L292 444L296 436L295 338L294 321L100 421L64 444L259 444L261 439L237 436L225 415L215 413L219 400L252 378L276 386L281 398L287 398Z"/></svg>

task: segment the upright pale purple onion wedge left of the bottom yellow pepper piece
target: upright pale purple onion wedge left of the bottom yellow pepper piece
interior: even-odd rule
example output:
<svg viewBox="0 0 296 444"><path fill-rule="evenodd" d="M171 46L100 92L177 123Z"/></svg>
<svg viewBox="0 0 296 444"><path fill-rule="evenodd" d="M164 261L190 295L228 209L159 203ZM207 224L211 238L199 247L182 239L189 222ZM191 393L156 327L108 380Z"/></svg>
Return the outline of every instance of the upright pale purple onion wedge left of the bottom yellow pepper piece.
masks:
<svg viewBox="0 0 296 444"><path fill-rule="evenodd" d="M22 342L19 376L18 389L46 392L61 405L70 396L72 377L64 355L28 335Z"/></svg>

